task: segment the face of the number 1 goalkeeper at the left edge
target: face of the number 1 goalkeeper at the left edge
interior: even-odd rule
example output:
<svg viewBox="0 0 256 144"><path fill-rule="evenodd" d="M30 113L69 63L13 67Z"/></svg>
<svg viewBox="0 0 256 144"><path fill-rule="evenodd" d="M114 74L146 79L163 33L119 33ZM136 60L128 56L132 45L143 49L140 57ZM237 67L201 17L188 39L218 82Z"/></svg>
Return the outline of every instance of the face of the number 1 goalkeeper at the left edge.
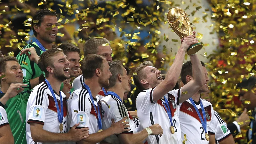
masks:
<svg viewBox="0 0 256 144"><path fill-rule="evenodd" d="M23 84L23 73L21 70L21 66L17 61L6 61L5 72L1 74L5 75L2 80L5 81L5 83L7 84Z"/></svg>

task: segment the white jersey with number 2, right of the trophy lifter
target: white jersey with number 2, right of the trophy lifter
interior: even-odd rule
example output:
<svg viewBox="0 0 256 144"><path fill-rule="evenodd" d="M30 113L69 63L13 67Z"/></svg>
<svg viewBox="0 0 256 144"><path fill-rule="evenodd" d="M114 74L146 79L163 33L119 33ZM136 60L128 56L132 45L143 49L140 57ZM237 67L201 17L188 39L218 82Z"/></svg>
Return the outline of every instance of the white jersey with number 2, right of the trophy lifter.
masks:
<svg viewBox="0 0 256 144"><path fill-rule="evenodd" d="M201 102L204 106L205 116L206 116L206 131L212 132L212 119L214 116L214 111L212 108L212 104L206 100L201 99ZM195 102L195 101L194 101ZM196 108L203 118L202 109L200 103L196 103ZM193 107L190 100L186 100L182 102L180 105L180 128L181 128L181 138L185 140L184 134L186 134L186 144L208 144L209 141L205 139L204 128L201 124L199 116L196 113L196 109ZM213 131L214 132L214 131Z"/></svg>

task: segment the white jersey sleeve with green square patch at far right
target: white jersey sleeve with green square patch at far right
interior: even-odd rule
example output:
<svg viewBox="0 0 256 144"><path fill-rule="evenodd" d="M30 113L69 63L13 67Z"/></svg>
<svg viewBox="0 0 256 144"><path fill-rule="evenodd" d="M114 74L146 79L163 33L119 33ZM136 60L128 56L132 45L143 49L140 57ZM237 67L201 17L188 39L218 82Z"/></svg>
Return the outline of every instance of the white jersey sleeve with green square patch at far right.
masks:
<svg viewBox="0 0 256 144"><path fill-rule="evenodd" d="M215 139L218 141L218 143L231 135L230 131L228 130L227 123L223 121L216 111L214 111L214 116L212 117L211 128L212 129L211 132L209 131L209 134L215 134Z"/></svg>

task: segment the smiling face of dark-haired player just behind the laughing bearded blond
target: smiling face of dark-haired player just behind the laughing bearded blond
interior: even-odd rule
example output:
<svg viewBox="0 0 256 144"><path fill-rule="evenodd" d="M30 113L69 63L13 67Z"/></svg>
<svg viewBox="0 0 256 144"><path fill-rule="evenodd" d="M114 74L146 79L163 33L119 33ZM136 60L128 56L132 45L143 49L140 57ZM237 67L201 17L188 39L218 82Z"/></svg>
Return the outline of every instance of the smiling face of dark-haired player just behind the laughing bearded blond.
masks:
<svg viewBox="0 0 256 144"><path fill-rule="evenodd" d="M69 75L71 77L76 77L76 74L78 73L78 68L80 67L79 53L78 52L68 52L67 53L67 59L68 59L69 64L70 64Z"/></svg>

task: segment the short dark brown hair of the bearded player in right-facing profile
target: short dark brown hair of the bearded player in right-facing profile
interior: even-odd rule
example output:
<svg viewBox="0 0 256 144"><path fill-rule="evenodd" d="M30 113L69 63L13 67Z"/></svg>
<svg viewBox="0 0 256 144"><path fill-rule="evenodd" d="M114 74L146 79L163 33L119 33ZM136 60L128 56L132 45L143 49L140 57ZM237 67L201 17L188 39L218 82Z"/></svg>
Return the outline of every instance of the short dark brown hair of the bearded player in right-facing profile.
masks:
<svg viewBox="0 0 256 144"><path fill-rule="evenodd" d="M92 78L97 68L102 70L104 60L104 57L97 54L88 54L85 56L81 65L84 79Z"/></svg>

